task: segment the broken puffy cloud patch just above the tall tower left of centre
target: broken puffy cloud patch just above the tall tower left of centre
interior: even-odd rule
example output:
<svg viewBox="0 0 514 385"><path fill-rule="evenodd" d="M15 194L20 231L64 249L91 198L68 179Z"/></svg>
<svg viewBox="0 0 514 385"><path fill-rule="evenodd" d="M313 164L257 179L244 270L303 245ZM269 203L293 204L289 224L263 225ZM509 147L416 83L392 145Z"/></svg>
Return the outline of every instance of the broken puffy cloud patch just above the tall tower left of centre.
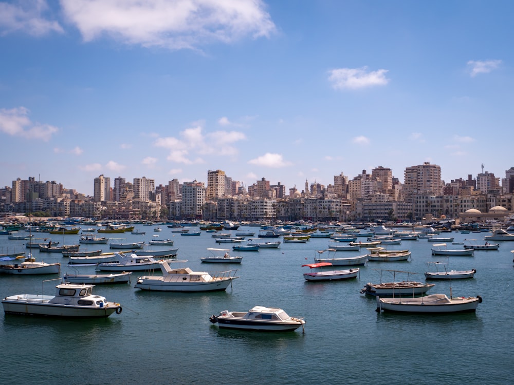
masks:
<svg viewBox="0 0 514 385"><path fill-rule="evenodd" d="M154 145L170 150L168 160L184 164L205 163L201 156L235 156L238 149L234 143L245 140L243 132L214 131L204 133L203 127L197 125L179 133L179 138L158 138Z"/></svg>

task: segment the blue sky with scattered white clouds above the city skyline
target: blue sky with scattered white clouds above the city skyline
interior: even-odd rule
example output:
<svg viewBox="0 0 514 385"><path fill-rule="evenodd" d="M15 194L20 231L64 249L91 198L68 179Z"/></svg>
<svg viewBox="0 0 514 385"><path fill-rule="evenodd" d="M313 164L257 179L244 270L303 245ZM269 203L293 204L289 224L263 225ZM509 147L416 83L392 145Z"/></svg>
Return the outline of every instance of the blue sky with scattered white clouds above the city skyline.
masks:
<svg viewBox="0 0 514 385"><path fill-rule="evenodd" d="M0 186L514 166L514 2L0 0Z"/></svg>

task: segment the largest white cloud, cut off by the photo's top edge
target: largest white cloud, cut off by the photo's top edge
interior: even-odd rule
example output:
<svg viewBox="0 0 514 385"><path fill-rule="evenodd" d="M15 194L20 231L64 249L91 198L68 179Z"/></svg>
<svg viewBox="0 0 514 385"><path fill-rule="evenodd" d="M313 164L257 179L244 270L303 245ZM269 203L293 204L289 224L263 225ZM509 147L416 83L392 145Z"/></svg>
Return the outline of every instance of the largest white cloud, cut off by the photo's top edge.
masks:
<svg viewBox="0 0 514 385"><path fill-rule="evenodd" d="M197 49L276 27L262 0L61 0L63 13L86 42L109 35L125 44Z"/></svg>

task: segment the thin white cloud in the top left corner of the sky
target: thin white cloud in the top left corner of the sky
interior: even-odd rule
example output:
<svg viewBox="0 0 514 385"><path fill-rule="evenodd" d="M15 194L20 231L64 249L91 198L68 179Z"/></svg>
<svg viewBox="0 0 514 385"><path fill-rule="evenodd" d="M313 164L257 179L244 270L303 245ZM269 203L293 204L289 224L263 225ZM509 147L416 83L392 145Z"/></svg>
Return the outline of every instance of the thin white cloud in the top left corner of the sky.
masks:
<svg viewBox="0 0 514 385"><path fill-rule="evenodd" d="M58 22L44 18L44 13L48 10L44 0L0 3L0 36L15 31L32 36L43 36L50 32L62 33L63 29Z"/></svg>

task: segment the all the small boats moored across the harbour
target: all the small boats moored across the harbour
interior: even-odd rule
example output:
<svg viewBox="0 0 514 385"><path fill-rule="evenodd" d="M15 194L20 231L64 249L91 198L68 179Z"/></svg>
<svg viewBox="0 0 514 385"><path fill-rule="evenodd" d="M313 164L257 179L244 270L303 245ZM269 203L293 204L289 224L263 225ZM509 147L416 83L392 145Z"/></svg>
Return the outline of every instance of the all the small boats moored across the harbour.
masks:
<svg viewBox="0 0 514 385"><path fill-rule="evenodd" d="M233 228L235 229L235 228ZM120 229L112 229L112 232L121 232ZM385 230L385 229L384 229ZM131 231L132 234L144 234L134 228L123 228L123 231ZM209 228L207 232L212 232L216 243L241 243L244 237L252 237L254 233L240 233L234 237L230 234L219 234L219 229ZM99 231L100 233L100 231ZM217 233L217 234L215 234ZM196 232L182 232L180 235L196 235ZM314 234L317 234L315 236ZM412 240L413 234L380 234L380 232L362 233L366 236L366 241L357 241L356 234L335 233L326 236L324 233L312 234L289 234L283 238L284 242L306 243L310 237L329 238L327 249L316 251L315 263L307 263L302 267L308 267L309 271L303 274L306 281L333 281L357 278L360 268L368 261L402 261L411 256L408 249L388 250L388 244L400 244L402 240ZM507 233L508 234L508 233ZM508 234L510 236L510 234ZM280 234L279 234L280 236ZM498 238L495 238L498 237ZM451 242L452 237L429 236L429 242L439 242L432 244L433 255L473 255L475 250L494 250L498 249L497 243L489 241L499 240L505 237L501 232L494 232L492 236L485 237L485 244L478 244L470 240L469 244L464 245L463 249L448 249L447 243ZM280 242L273 240L266 242L263 238L277 238L276 232L263 233L260 238L250 238L246 245L236 244L232 246L233 251L258 251L259 248L279 248ZM415 239L418 239L416 236ZM507 238L502 238L505 240ZM510 238L509 238L510 239ZM507 240L509 240L507 239ZM28 238L30 241L30 238ZM107 238L94 235L82 235L80 243L107 243ZM110 248L142 248L144 242L133 242L128 244L111 243ZM154 236L150 244L154 245L173 245L170 239L159 239ZM385 247L384 247L385 246ZM56 293L49 295L18 294L6 297L2 303L5 313L8 314L27 314L45 315L57 317L108 317L113 313L120 314L121 305L116 302L109 302L105 297L93 295L93 287L102 283L127 283L131 282L131 274L134 271L152 271L160 269L161 275L143 275L136 279L135 288L145 291L169 291L169 292L206 292L224 291L232 284L237 270L228 270L222 273L212 274L208 272L193 271L189 267L174 268L176 260L158 260L159 255L153 251L137 252L115 252L101 253L101 251L79 252L78 245L48 244L38 245L41 252L59 252L69 257L70 264L96 264L95 274L71 274L63 276L64 282L56 286ZM339 251L358 250L362 247L367 249L366 254L355 257L331 257ZM229 249L208 248L213 256L201 257L201 262L212 263L241 263L243 257L231 256ZM168 256L176 256L168 250ZM216 255L216 253L224 254ZM514 251L513 251L514 252ZM81 254L79 254L81 253ZM328 255L323 255L327 253ZM108 254L108 255L107 255ZM21 257L21 256L20 256ZM448 263L429 262L433 266L434 272L425 272L427 280L433 279L465 279L472 278L476 273L475 269L465 271L455 271L448 269ZM334 269L333 266L348 266L347 269ZM36 262L30 255L21 263L10 265L0 265L0 272L7 274L54 274L60 273L60 263L47 264ZM382 271L384 271L382 269ZM390 270L389 272L408 273ZM408 273L412 274L412 273ZM433 283L423 283L407 279L380 283L366 283L361 289L365 295L376 296L377 311L408 312L408 313L455 313L472 312L476 310L482 302L480 296L475 297L448 297L445 294L429 294L427 292L434 287ZM296 330L305 325L303 318L290 317L278 307L254 306L247 312L223 311L219 315L212 315L210 321L217 323L220 328L244 329L244 330L264 330L264 331L288 331Z"/></svg>

